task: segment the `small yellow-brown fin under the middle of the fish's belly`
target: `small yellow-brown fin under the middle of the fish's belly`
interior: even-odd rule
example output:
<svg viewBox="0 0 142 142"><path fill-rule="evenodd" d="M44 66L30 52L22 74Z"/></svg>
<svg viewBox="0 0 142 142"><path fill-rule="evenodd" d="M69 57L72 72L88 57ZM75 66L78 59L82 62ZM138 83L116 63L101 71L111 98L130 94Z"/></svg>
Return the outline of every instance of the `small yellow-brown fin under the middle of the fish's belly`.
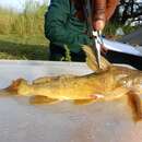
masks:
<svg viewBox="0 0 142 142"><path fill-rule="evenodd" d="M91 104L91 103L94 103L95 99L94 98L90 98L90 99L74 99L73 103L75 105L87 105L87 104Z"/></svg>

